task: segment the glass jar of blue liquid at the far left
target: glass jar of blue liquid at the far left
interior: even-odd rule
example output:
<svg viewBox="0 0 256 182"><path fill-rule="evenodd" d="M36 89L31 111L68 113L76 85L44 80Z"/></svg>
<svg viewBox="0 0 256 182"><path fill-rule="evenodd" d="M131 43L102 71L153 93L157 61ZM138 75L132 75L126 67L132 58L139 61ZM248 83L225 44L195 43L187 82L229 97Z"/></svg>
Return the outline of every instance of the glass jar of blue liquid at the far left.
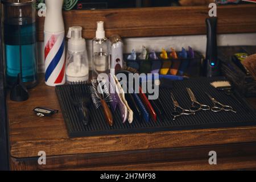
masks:
<svg viewBox="0 0 256 182"><path fill-rule="evenodd" d="M13 2L2 1L6 82L13 86L21 73L23 82L31 88L37 83L34 1L20 6Z"/></svg>

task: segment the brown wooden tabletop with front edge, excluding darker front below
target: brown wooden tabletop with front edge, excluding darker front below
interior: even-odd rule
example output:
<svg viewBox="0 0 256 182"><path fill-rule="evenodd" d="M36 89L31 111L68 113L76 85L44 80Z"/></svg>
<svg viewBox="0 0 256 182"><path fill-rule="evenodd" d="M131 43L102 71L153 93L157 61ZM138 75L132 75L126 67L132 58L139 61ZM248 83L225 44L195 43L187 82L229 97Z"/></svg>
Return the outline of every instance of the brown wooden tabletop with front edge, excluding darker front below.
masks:
<svg viewBox="0 0 256 182"><path fill-rule="evenodd" d="M41 78L29 93L25 102L7 99L10 154L14 158L37 156L42 150L53 156L256 142L256 126L69 138L55 88L46 86ZM255 98L250 101L255 104ZM58 109L59 113L39 118L32 111L36 106Z"/></svg>

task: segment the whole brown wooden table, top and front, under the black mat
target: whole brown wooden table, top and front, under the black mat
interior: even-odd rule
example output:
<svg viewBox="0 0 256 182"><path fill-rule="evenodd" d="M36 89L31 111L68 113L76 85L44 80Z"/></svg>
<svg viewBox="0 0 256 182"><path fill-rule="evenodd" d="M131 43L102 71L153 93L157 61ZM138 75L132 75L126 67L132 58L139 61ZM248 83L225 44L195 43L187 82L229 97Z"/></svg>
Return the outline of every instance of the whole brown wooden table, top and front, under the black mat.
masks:
<svg viewBox="0 0 256 182"><path fill-rule="evenodd" d="M55 88L41 79L29 93L25 102L7 98L11 169L256 169L256 126L69 138ZM256 98L249 101L256 107ZM39 118L36 106L59 113ZM209 165L209 151L217 165Z"/></svg>

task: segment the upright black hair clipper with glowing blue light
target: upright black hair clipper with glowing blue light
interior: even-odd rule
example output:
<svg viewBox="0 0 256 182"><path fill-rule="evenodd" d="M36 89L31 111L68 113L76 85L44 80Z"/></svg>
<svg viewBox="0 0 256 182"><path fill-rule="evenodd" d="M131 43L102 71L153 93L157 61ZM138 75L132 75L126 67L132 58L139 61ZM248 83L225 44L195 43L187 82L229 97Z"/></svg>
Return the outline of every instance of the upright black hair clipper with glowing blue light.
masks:
<svg viewBox="0 0 256 182"><path fill-rule="evenodd" d="M217 55L217 17L205 19L207 25L207 52L203 64L203 75L220 76L220 62Z"/></svg>

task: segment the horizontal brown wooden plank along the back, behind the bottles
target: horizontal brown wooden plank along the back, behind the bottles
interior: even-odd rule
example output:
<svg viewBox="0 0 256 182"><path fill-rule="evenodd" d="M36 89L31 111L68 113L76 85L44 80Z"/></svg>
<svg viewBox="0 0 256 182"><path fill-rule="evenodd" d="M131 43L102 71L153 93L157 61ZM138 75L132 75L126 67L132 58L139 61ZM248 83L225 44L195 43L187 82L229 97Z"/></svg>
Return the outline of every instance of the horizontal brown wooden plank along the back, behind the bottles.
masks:
<svg viewBox="0 0 256 182"><path fill-rule="evenodd" d="M95 36L96 22L104 20L106 35L123 38L205 34L207 6L64 11L66 31L82 26L86 39ZM217 7L218 34L256 32L256 5ZM38 18L38 40L43 41L44 18Z"/></svg>

